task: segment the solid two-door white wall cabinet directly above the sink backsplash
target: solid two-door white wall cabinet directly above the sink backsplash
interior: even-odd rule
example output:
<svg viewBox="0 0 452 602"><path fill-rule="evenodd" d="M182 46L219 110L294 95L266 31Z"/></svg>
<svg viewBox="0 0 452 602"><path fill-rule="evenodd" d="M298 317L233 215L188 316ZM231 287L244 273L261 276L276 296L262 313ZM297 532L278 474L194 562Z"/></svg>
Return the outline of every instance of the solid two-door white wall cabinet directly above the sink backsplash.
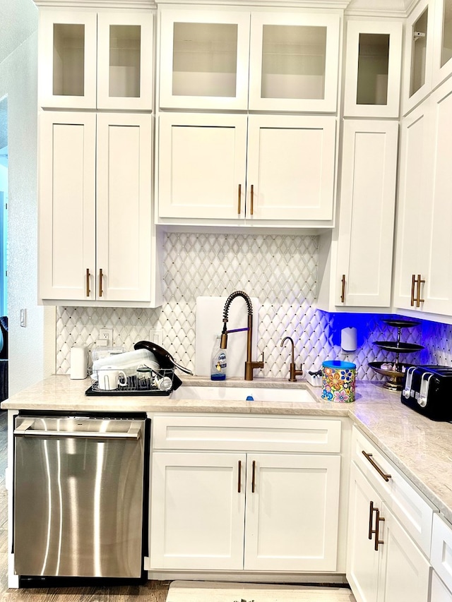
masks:
<svg viewBox="0 0 452 602"><path fill-rule="evenodd" d="M159 218L331 222L335 125L329 116L160 114Z"/></svg>

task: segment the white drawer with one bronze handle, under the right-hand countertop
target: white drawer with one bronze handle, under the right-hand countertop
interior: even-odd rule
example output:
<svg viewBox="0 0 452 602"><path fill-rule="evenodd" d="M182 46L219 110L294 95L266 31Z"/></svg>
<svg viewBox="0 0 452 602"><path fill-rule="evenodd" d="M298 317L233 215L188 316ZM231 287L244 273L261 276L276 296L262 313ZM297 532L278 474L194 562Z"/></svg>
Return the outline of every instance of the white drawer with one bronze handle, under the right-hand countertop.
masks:
<svg viewBox="0 0 452 602"><path fill-rule="evenodd" d="M359 466L386 506L428 556L432 540L433 507L356 427L352 431L352 462ZM386 475L387 481L380 471Z"/></svg>

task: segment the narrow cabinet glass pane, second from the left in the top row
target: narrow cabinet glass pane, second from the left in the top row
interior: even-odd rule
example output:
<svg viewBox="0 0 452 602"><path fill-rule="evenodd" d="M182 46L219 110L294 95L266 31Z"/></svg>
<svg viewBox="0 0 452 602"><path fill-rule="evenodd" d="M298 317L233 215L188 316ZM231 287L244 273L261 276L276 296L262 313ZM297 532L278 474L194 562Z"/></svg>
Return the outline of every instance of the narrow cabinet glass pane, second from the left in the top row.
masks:
<svg viewBox="0 0 452 602"><path fill-rule="evenodd" d="M109 96L140 96L140 25L110 25Z"/></svg>

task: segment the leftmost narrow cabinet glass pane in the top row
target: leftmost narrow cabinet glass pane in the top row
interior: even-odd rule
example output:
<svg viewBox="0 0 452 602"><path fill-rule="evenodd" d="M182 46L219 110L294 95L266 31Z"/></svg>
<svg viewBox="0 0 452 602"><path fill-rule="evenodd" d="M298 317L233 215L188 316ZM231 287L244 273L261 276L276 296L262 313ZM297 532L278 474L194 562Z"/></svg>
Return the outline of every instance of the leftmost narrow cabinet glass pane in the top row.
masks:
<svg viewBox="0 0 452 602"><path fill-rule="evenodd" d="M85 25L54 23L55 96L85 93Z"/></svg>

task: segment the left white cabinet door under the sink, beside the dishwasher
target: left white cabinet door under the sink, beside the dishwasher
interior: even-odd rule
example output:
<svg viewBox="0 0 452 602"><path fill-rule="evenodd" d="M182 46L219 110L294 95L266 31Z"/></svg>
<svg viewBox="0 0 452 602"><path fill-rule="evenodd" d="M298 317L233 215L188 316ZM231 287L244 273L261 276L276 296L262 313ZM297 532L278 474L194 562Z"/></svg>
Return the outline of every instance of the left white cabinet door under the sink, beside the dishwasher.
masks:
<svg viewBox="0 0 452 602"><path fill-rule="evenodd" d="M153 453L152 570L242 570L245 458Z"/></svg>

